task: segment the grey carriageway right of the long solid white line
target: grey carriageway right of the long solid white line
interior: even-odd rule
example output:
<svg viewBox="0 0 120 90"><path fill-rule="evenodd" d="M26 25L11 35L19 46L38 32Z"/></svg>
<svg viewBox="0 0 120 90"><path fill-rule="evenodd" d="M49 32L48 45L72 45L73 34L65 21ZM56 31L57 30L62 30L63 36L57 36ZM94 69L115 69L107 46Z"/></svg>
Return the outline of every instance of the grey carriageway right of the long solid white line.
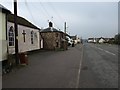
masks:
<svg viewBox="0 0 120 90"><path fill-rule="evenodd" d="M80 88L118 87L118 46L84 44Z"/></svg>

